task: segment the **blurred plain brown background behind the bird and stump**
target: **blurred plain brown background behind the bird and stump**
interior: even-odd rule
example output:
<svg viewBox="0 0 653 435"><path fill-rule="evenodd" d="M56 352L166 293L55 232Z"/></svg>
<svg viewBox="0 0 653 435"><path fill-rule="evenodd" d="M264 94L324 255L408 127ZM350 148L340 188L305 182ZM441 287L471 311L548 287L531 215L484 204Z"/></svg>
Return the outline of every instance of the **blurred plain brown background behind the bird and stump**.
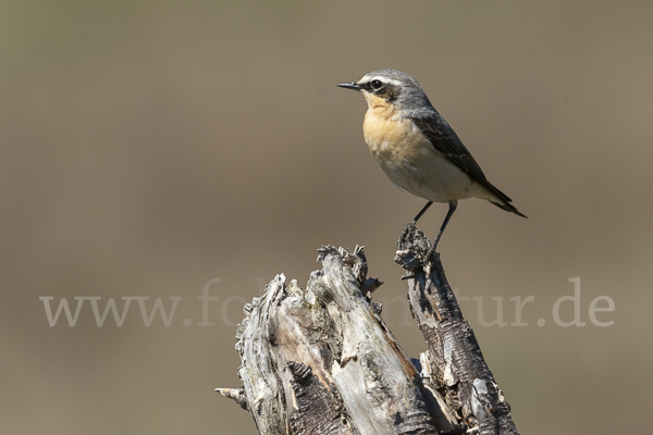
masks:
<svg viewBox="0 0 653 435"><path fill-rule="evenodd" d="M235 325L276 273L304 286L322 244L366 246L390 327L424 350L393 262L424 201L387 182L362 97L335 87L382 67L417 77L529 216L463 201L440 244L517 427L649 432L651 16L645 1L3 1L0 432L256 434L213 391L242 385ZM445 212L420 227L433 237ZM74 326L54 319L62 298ZM98 326L88 298L100 315L132 298L122 326ZM505 326L488 325L497 304ZM562 326L577 310L584 326Z"/></svg>

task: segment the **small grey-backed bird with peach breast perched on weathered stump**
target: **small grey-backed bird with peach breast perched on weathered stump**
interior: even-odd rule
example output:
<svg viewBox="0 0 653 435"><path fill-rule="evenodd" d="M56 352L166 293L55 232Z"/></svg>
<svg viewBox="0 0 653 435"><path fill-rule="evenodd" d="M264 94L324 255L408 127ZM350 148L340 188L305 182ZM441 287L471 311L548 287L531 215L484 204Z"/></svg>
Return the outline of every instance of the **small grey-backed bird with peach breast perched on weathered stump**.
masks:
<svg viewBox="0 0 653 435"><path fill-rule="evenodd" d="M365 97L368 103L362 123L365 141L385 175L401 190L428 200L408 226L415 226L433 202L448 203L431 251L460 199L484 199L527 217L512 204L507 195L488 181L414 76L397 70L378 70L358 82L337 86L359 91Z"/></svg>

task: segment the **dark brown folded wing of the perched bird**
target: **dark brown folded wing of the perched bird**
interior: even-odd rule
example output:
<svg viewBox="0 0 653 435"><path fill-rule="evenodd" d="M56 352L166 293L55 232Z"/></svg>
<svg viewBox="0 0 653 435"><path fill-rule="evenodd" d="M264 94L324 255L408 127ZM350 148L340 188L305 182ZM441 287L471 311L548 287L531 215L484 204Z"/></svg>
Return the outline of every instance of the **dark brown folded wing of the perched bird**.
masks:
<svg viewBox="0 0 653 435"><path fill-rule="evenodd" d="M431 141L438 152L446 157L452 163L460 167L471 179L486 188L497 199L508 203L512 201L507 195L498 190L488 181L481 166L473 160L471 153L465 148L463 141L454 129L440 116L429 114L411 117L415 125Z"/></svg>

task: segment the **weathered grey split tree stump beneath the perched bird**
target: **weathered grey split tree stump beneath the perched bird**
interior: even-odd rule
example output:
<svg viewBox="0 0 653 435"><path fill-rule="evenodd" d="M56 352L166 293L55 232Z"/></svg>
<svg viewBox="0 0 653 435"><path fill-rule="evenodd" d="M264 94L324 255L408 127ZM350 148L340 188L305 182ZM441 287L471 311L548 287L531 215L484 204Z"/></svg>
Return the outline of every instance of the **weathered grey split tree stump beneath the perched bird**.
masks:
<svg viewBox="0 0 653 435"><path fill-rule="evenodd" d="M283 274L245 306L243 387L218 388L271 434L517 434L436 253L408 226L395 257L429 349L410 360L381 318L364 249L319 249L305 289Z"/></svg>

